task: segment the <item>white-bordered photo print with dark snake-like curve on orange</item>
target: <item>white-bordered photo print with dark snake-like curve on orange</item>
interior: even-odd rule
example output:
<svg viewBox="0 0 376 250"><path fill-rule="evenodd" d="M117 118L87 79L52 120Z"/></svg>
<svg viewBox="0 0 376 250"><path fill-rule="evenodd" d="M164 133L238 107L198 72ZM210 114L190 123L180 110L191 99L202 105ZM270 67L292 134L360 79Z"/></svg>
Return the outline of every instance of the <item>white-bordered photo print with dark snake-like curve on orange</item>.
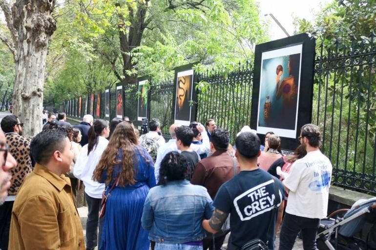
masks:
<svg viewBox="0 0 376 250"><path fill-rule="evenodd" d="M192 91L193 70L178 72L175 101L175 122L178 124L188 126L190 123Z"/></svg>

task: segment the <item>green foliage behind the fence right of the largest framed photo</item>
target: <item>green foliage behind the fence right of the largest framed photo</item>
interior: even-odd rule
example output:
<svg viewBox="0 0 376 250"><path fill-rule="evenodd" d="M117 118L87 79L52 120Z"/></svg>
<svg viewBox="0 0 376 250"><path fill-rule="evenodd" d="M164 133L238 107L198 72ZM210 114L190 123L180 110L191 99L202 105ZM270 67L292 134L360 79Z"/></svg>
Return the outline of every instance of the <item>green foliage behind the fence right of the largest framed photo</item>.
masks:
<svg viewBox="0 0 376 250"><path fill-rule="evenodd" d="M316 55L323 61L316 62L313 95L323 150L339 172L359 179L374 174L375 164L376 65L369 53L376 44L375 6L376 0L335 0L314 23L296 22L298 32L316 36ZM346 184L360 186L361 180Z"/></svg>

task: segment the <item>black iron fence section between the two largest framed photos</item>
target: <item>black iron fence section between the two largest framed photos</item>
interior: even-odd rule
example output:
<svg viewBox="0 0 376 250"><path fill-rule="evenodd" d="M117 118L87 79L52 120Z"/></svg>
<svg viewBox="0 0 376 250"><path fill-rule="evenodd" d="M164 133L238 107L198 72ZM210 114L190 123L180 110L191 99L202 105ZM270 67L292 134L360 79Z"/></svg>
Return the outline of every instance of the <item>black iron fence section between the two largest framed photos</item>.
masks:
<svg viewBox="0 0 376 250"><path fill-rule="evenodd" d="M230 132L233 144L236 134L251 119L252 67L247 61L227 76L207 72L197 76L199 82L197 120L215 120L217 127Z"/></svg>

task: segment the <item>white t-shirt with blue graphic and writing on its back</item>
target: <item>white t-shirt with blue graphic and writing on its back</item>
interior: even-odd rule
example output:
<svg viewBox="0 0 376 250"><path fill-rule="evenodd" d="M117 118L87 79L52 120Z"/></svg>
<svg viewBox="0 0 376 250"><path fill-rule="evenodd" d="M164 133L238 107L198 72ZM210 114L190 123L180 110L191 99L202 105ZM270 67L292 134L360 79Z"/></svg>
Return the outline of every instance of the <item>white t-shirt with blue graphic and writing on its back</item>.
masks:
<svg viewBox="0 0 376 250"><path fill-rule="evenodd" d="M321 151L296 160L283 184L290 190L286 212L306 218L324 218L328 210L332 163Z"/></svg>

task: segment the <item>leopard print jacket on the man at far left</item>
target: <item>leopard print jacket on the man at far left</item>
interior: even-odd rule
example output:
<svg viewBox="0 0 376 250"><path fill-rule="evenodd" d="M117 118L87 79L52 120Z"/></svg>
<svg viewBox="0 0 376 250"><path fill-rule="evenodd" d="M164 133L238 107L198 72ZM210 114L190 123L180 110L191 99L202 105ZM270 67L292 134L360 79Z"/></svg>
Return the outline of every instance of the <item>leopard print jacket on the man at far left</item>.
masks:
<svg viewBox="0 0 376 250"><path fill-rule="evenodd" d="M12 186L9 188L9 195L16 195L23 180L33 171L30 158L31 139L14 133L5 134L9 146L9 153L17 161L17 167L12 169Z"/></svg>

